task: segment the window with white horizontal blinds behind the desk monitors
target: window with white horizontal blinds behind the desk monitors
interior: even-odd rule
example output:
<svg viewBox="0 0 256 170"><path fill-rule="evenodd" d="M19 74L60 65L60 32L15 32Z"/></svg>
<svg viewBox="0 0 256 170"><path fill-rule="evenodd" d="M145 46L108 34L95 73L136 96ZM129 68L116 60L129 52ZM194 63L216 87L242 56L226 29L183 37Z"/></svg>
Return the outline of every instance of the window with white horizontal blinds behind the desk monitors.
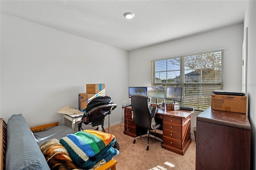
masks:
<svg viewBox="0 0 256 170"><path fill-rule="evenodd" d="M154 60L152 85L182 87L180 105L204 111L211 105L212 91L223 89L223 56L220 50Z"/></svg>

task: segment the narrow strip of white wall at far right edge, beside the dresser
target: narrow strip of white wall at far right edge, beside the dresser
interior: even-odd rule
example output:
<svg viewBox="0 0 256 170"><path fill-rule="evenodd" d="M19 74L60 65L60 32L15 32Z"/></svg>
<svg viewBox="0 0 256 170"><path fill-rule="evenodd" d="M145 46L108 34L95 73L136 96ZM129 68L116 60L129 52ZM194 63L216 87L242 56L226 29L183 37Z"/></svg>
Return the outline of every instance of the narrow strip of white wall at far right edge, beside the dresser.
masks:
<svg viewBox="0 0 256 170"><path fill-rule="evenodd" d="M248 119L251 125L251 170L256 170L256 1L247 1L244 18L245 30L248 27L248 67L247 95Z"/></svg>

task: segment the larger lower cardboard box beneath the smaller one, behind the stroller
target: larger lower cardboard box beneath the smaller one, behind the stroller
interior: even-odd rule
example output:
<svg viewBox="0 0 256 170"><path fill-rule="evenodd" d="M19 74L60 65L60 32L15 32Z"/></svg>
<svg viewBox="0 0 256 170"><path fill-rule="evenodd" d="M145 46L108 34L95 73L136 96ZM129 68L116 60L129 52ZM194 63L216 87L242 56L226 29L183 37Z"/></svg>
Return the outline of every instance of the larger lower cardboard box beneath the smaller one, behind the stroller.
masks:
<svg viewBox="0 0 256 170"><path fill-rule="evenodd" d="M86 109L88 103L98 96L105 96L105 93L78 93L78 110L82 111L83 109Z"/></svg>

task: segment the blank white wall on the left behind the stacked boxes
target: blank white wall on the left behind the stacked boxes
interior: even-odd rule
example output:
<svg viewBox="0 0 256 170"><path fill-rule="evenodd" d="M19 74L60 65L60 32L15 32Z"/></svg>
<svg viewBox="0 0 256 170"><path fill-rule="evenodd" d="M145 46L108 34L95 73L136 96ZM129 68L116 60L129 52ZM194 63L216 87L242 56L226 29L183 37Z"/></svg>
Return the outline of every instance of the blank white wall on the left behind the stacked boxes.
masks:
<svg viewBox="0 0 256 170"><path fill-rule="evenodd" d="M78 93L94 83L105 83L106 95L118 105L111 123L122 120L127 51L1 13L0 59L4 121L21 113L30 126L62 124L56 111L66 105L78 109Z"/></svg>

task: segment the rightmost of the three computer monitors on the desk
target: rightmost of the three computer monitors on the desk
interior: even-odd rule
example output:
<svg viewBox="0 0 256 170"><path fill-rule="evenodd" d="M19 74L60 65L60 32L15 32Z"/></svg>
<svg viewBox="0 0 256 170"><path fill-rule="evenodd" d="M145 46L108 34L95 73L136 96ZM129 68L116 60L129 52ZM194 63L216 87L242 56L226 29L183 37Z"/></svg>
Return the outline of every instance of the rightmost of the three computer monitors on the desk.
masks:
<svg viewBox="0 0 256 170"><path fill-rule="evenodd" d="M166 87L166 97L167 100L172 100L181 102L182 100L182 87Z"/></svg>

